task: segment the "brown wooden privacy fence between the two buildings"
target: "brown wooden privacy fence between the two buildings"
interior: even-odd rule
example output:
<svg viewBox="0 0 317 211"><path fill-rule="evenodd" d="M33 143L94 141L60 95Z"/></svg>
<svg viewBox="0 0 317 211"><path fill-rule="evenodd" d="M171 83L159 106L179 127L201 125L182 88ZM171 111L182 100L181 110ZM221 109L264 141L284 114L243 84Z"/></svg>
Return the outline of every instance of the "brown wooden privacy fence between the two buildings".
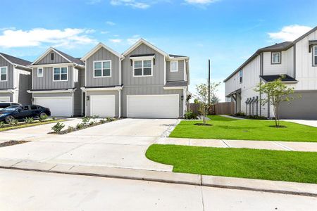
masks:
<svg viewBox="0 0 317 211"><path fill-rule="evenodd" d="M189 103L189 110L193 113L199 114L199 106L197 103ZM234 115L235 114L235 103L225 102L212 104L209 108L209 113L211 115Z"/></svg>

